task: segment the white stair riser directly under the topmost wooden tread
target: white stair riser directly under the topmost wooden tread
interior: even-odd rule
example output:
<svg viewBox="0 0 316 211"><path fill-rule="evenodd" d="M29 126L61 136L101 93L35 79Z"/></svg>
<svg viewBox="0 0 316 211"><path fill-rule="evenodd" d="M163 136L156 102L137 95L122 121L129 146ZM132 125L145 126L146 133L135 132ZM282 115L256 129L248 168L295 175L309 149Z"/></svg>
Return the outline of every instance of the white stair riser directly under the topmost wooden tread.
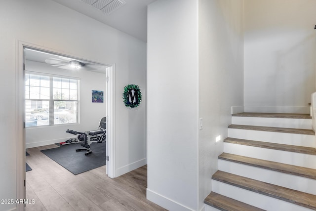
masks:
<svg viewBox="0 0 316 211"><path fill-rule="evenodd" d="M232 124L247 126L312 129L312 120L310 119L232 117Z"/></svg>

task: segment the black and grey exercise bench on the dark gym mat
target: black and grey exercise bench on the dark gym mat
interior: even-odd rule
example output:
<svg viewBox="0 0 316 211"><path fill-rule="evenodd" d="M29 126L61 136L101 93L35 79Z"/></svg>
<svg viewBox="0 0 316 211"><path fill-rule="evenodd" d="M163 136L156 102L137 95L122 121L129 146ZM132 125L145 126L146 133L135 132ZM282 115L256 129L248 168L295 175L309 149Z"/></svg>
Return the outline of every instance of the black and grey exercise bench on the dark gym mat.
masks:
<svg viewBox="0 0 316 211"><path fill-rule="evenodd" d="M100 124L97 130L78 132L75 130L67 129L66 132L78 135L78 141L81 143L81 146L85 147L82 149L76 149L76 152L86 151L84 155L89 155L90 153L92 153L92 151L89 149L91 143L106 142L106 118L103 117L100 120Z"/></svg>

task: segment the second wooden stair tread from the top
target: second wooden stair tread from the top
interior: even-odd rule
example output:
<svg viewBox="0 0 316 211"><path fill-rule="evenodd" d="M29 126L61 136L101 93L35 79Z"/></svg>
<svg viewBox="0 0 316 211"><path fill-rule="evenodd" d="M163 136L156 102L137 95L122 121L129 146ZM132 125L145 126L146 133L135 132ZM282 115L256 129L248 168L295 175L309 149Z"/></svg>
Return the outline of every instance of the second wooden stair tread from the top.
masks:
<svg viewBox="0 0 316 211"><path fill-rule="evenodd" d="M315 135L312 129L296 129L296 128L285 128L285 127L263 127L263 126L244 126L244 125L230 125L228 128L233 129L247 129L247 130L260 130L268 132L285 132L295 133L304 135Z"/></svg>

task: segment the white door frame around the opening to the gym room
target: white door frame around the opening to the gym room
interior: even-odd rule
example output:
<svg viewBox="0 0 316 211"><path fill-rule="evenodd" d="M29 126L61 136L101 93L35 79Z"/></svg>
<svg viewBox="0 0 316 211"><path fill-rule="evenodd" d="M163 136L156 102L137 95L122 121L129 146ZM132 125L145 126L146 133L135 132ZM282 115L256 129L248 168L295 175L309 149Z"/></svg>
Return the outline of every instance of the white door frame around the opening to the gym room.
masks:
<svg viewBox="0 0 316 211"><path fill-rule="evenodd" d="M72 58L78 58L69 53L60 52L56 49L39 46L34 43L16 40L16 199L26 199L26 173L25 173L25 64L24 64L24 47L36 48L42 51L53 52L59 55L66 55ZM87 59L82 59L89 61ZM108 66L106 75L107 80L107 152L110 157L106 161L106 173L109 177L115 177L115 64L108 65L102 62L89 61L103 66ZM23 204L17 204L17 211L24 211Z"/></svg>

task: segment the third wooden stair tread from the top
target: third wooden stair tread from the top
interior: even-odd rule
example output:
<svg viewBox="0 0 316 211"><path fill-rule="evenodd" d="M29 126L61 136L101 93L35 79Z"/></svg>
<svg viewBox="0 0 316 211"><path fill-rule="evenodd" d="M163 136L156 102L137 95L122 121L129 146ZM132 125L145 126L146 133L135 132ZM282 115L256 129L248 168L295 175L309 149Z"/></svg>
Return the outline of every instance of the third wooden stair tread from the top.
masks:
<svg viewBox="0 0 316 211"><path fill-rule="evenodd" d="M275 150L282 150L288 152L296 152L296 153L303 153L309 155L316 155L316 148L313 147L303 147L303 146L295 146L295 145L288 145L288 144L276 144L264 141L253 141L253 140L245 140L239 138L226 138L224 139L226 143L233 143L233 144L241 144L247 146L254 146L254 147L261 147L267 149L275 149Z"/></svg>

